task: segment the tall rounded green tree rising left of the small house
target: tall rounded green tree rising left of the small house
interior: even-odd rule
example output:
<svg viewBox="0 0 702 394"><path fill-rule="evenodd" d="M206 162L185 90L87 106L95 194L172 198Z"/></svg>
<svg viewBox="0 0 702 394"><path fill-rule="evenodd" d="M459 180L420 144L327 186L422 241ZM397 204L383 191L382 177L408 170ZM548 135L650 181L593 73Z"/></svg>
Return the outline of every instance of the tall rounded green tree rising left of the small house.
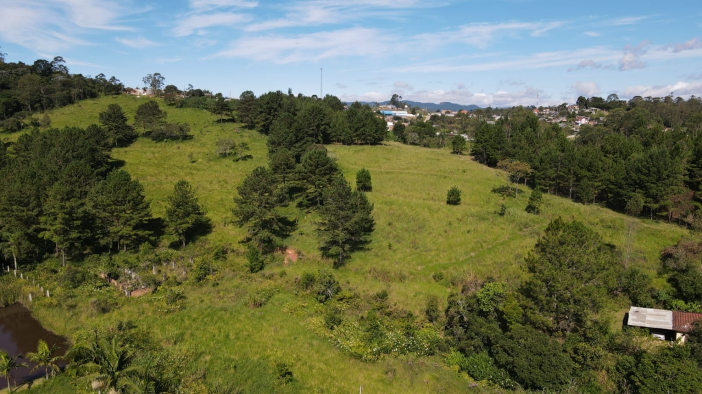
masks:
<svg viewBox="0 0 702 394"><path fill-rule="evenodd" d="M552 221L526 262L531 278L520 292L534 308L534 324L555 332L583 327L616 286L614 250L581 222Z"/></svg>

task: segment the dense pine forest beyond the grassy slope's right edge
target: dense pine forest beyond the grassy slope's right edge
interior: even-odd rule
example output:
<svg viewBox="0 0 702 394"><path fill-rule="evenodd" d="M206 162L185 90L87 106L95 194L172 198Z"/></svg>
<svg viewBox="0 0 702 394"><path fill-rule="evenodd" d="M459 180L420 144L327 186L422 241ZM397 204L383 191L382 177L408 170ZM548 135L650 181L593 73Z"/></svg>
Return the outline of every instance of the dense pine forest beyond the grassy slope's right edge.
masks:
<svg viewBox="0 0 702 394"><path fill-rule="evenodd" d="M702 185L701 128L696 97L631 100L574 138L517 111L480 123L472 155L490 166L507 158L526 163L529 183L549 193L691 224Z"/></svg>

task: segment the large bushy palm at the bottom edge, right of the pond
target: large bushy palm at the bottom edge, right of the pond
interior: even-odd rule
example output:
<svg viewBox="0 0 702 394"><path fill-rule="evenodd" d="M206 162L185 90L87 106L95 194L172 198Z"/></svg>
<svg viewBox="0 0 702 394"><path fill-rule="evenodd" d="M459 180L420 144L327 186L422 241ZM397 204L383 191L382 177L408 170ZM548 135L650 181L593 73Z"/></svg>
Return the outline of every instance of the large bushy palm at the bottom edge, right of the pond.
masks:
<svg viewBox="0 0 702 394"><path fill-rule="evenodd" d="M85 374L91 381L105 382L107 388L117 388L121 380L138 374L141 369L131 366L133 353L117 344L117 339L95 339L78 342L69 348L71 372Z"/></svg>

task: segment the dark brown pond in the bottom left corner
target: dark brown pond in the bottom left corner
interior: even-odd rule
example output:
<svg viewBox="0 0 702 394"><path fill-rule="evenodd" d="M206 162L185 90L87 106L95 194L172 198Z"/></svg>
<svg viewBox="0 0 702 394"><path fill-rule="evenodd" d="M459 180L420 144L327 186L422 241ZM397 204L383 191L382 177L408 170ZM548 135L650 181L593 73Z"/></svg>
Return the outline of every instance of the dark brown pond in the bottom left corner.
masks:
<svg viewBox="0 0 702 394"><path fill-rule="evenodd" d="M27 352L37 351L37 342L44 339L49 347L58 344L60 348L54 355L63 355L68 347L67 341L53 332L48 332L41 323L32 316L22 304L13 304L0 308L0 349L9 355L25 355ZM34 364L26 358L18 359L26 362L29 368L16 369L12 373L17 383L29 381L44 376L44 368L29 372L34 368ZM61 364L62 365L62 364ZM12 379L10 379L12 381ZM0 390L7 387L6 379L0 379Z"/></svg>

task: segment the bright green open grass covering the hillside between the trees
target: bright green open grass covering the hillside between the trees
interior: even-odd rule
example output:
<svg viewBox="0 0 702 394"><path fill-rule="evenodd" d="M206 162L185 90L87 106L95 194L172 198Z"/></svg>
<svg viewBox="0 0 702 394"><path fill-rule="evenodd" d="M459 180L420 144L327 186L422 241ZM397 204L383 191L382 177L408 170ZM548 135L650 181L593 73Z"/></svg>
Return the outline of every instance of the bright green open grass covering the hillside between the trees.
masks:
<svg viewBox="0 0 702 394"><path fill-rule="evenodd" d="M105 97L88 100L49 114L52 127L97 123L108 104L120 104L133 116L136 97ZM161 100L159 100L161 102ZM244 229L231 224L232 197L241 180L258 165L266 165L265 137L235 123L216 123L216 118L197 109L164 107L169 121L192 125L192 140L152 142L140 138L130 147L115 149L112 156L124 161L124 169L142 182L151 199L154 216L165 211L166 197L178 179L197 190L201 203L215 224L206 237L211 245L227 243L243 250L239 240ZM3 135L15 140L18 135ZM235 163L218 158L216 140L230 137L248 142L253 158ZM368 250L357 252L336 276L343 287L364 294L388 290L390 302L423 315L430 295L445 303L456 283L488 276L516 286L524 275L523 261L545 226L556 217L578 219L596 229L608 243L625 250L633 226L629 264L653 273L661 249L675 243L686 231L680 226L620 215L596 205L581 205L564 198L544 196L542 215L524 211L529 189L521 186L518 198L503 198L492 190L506 184L505 174L473 162L470 156L451 155L449 150L410 147L395 142L381 146L329 146L347 179L367 168L373 177L369 199L375 204L376 231ZM446 191L458 186L462 203L446 205ZM501 204L504 216L497 214ZM314 215L295 208L286 212L298 219L298 229L286 243L302 253L296 264L283 267L282 258L269 271L286 271L287 278L321 266L331 266L317 250ZM202 241L200 241L202 242ZM183 311L156 313L144 299L129 300L100 320L63 308L34 307L34 313L51 330L70 335L79 328L133 320L154 332L164 344L191 354L208 376L232 376L246 392L436 393L467 390L470 381L434 358L389 358L365 363L346 357L329 340L314 334L308 318L314 305L300 313L286 313L286 305L298 302L289 290L277 293L263 308L249 308L245 297L266 283L241 276L243 258L232 259L218 287L188 287ZM441 271L438 282L432 274ZM285 289L285 287L283 287ZM613 312L614 316L614 312ZM288 362L295 376L292 385L274 386L272 365ZM476 389L479 390L479 389Z"/></svg>

